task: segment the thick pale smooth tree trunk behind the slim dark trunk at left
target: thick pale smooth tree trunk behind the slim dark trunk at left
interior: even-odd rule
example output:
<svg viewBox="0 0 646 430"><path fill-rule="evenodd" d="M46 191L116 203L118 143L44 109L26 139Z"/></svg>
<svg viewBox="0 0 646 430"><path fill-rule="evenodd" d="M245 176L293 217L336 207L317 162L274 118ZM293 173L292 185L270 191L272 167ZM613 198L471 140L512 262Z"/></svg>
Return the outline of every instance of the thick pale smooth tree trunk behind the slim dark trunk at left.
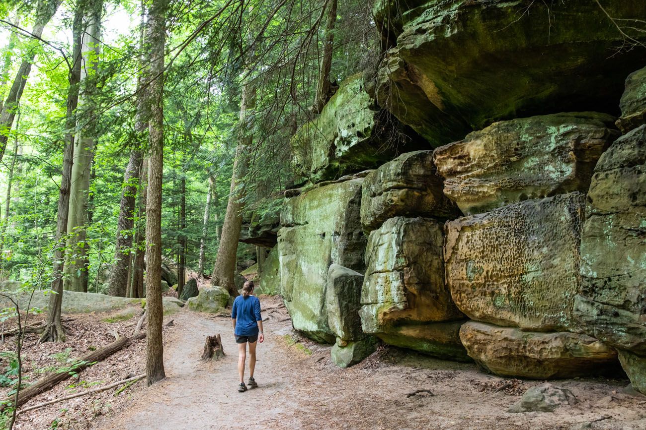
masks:
<svg viewBox="0 0 646 430"><path fill-rule="evenodd" d="M99 41L101 37L101 12L103 2L93 1L87 17L86 30L83 33L82 53L83 67L81 67L81 84L79 90L79 112L83 118L90 118L90 122L76 133L74 141L74 164L72 166L72 188L70 189L70 216L67 221L67 231L70 234L67 240L69 264L65 273L65 289L87 293L89 266L87 246L87 205L90 190L90 173L92 170L92 155L94 153L94 133L96 121L92 107L96 103L96 72L99 55ZM87 106L88 108L83 109Z"/></svg>

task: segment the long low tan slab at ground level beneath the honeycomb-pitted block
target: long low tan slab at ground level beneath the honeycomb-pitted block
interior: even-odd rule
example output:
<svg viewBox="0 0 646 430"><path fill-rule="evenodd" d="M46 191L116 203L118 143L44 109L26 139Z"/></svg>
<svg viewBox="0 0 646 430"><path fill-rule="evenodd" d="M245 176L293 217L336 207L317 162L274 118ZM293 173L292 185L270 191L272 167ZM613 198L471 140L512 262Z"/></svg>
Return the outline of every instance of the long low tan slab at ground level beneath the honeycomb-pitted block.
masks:
<svg viewBox="0 0 646 430"><path fill-rule="evenodd" d="M460 329L469 356L495 375L532 379L611 374L617 353L588 335L537 333L470 321Z"/></svg>

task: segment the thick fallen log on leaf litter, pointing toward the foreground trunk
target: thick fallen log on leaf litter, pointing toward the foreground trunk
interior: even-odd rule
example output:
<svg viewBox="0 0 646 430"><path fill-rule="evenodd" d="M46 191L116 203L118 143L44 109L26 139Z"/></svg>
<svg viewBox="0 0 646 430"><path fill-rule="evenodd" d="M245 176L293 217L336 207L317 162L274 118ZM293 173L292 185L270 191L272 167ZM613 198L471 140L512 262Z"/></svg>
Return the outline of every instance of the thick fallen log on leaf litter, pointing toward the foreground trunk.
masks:
<svg viewBox="0 0 646 430"><path fill-rule="evenodd" d="M66 380L71 376L73 372L79 372L96 362L105 360L105 358L110 357L110 355L121 351L121 349L126 346L129 346L132 340L141 339L144 337L146 337L145 331L136 333L136 335L131 338L126 336L118 337L116 340L114 340L114 342L107 344L106 346L101 347L96 351L92 351L85 357L82 357L75 363L71 364L69 367L62 369L61 371L50 373L44 378L37 380L36 382L34 382L34 384L20 390L15 407L22 406L30 398L39 395L40 393L43 393L48 389L56 386L56 384L58 384L59 382ZM14 407L15 400L16 395L10 395L5 397L3 400L0 400L0 412L5 410L7 407Z"/></svg>

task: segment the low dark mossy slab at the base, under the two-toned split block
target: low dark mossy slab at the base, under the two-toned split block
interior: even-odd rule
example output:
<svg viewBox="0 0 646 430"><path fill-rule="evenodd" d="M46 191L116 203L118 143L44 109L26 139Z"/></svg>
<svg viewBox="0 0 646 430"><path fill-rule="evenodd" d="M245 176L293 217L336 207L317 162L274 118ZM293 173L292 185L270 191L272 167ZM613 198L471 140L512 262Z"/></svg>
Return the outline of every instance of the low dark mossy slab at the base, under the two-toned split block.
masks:
<svg viewBox="0 0 646 430"><path fill-rule="evenodd" d="M443 360L469 362L471 358L460 340L460 327L464 320L405 324L388 328L377 336L386 344L430 355Z"/></svg>

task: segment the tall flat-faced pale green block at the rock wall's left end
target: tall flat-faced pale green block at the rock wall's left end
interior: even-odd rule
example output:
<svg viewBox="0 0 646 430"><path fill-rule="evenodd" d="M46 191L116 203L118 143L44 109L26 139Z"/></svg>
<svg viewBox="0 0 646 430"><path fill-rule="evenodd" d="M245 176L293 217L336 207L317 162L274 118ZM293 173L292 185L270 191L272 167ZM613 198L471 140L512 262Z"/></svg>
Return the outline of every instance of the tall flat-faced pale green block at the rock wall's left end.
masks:
<svg viewBox="0 0 646 430"><path fill-rule="evenodd" d="M280 291L295 329L333 343L328 325L328 268L364 269L366 237L359 210L362 178L318 186L286 199L278 233Z"/></svg>

